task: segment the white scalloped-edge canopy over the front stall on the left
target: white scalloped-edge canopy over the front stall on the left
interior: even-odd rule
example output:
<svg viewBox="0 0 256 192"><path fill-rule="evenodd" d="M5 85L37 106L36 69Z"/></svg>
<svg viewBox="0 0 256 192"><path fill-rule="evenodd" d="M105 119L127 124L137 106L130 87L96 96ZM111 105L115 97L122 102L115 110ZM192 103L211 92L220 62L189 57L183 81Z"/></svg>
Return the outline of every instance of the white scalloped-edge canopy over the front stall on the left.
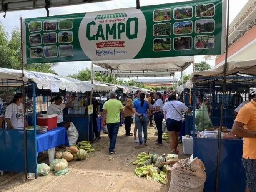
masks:
<svg viewBox="0 0 256 192"><path fill-rule="evenodd" d="M28 80L35 82L38 89L51 90L52 83L57 84L61 90L69 92L84 93L93 89L91 83L68 77L60 77L51 73L24 71L24 78L22 78L22 70L0 68L0 78L3 79L0 86L21 86L23 79L25 82L28 82Z"/></svg>

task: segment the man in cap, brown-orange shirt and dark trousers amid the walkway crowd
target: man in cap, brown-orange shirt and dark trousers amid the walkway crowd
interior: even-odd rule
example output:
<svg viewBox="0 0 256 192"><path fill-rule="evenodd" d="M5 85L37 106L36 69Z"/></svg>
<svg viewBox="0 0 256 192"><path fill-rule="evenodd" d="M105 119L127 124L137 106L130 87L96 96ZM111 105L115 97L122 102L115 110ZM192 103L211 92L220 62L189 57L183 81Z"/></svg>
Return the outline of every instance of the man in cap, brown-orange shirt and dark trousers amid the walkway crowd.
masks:
<svg viewBox="0 0 256 192"><path fill-rule="evenodd" d="M131 131L131 118L133 116L133 104L132 99L133 99L133 94L132 93L128 93L127 94L127 100L125 102L125 135L126 136L133 136L132 133L130 133Z"/></svg>

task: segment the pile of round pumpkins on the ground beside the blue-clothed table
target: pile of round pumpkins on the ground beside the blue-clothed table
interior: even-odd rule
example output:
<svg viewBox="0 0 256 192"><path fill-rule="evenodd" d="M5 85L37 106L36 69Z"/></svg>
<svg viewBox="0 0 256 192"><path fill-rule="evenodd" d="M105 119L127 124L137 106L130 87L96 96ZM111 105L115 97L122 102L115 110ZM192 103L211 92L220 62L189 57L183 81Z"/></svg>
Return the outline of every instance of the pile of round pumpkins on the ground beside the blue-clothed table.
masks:
<svg viewBox="0 0 256 192"><path fill-rule="evenodd" d="M64 175L68 172L68 162L73 159L85 159L87 152L83 149L77 149L75 146L66 147L65 152L57 152L55 159L50 163L50 170L55 171L55 175Z"/></svg>

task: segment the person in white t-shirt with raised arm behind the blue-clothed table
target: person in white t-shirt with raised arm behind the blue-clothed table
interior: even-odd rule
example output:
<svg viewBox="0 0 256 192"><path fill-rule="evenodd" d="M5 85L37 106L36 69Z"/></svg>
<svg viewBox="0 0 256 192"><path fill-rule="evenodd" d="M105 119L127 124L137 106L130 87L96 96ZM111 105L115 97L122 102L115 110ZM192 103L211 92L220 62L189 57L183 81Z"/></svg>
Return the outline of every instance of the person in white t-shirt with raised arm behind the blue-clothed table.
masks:
<svg viewBox="0 0 256 192"><path fill-rule="evenodd" d="M60 96L57 96L51 100L51 102L54 101L54 103L49 105L47 113L58 114L57 127L65 126L63 122L63 109L68 108L73 103L73 101L75 101L75 99L76 99L75 95L72 95L72 100L67 104L62 103L62 98Z"/></svg>

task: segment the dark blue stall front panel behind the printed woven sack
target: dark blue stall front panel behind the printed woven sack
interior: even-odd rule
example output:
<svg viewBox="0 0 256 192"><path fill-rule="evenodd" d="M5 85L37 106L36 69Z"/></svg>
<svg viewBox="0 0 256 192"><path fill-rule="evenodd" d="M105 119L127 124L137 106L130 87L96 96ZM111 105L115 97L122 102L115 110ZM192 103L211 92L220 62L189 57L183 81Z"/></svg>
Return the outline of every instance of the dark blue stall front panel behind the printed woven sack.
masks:
<svg viewBox="0 0 256 192"><path fill-rule="evenodd" d="M218 139L194 138L194 158L204 163L207 179L204 192L215 192L218 155ZM243 141L223 139L218 192L241 192L245 190L245 172L242 165Z"/></svg>

